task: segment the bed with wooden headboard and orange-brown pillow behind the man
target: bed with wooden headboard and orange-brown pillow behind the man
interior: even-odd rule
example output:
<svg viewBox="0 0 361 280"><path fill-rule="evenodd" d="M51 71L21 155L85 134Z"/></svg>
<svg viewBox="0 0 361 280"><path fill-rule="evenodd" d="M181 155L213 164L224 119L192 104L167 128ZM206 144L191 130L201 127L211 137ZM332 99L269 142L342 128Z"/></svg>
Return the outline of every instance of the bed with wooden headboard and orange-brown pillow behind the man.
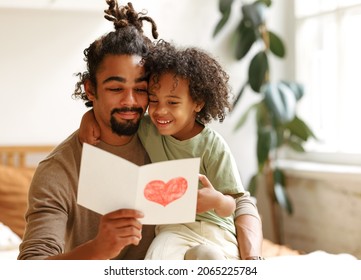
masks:
<svg viewBox="0 0 361 280"><path fill-rule="evenodd" d="M0 259L17 258L25 230L24 215L30 182L39 161L53 148L51 145L0 146ZM267 259L306 256L267 239L263 240L262 254ZM322 252L322 255L325 253Z"/></svg>

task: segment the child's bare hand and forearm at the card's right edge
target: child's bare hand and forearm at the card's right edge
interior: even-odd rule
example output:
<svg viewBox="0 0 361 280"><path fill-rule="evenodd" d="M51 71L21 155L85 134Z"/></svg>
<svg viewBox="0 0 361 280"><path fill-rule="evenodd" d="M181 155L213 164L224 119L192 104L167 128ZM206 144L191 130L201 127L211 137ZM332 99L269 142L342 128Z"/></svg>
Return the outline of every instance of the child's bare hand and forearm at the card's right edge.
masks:
<svg viewBox="0 0 361 280"><path fill-rule="evenodd" d="M211 209L220 217L231 216L236 209L236 201L229 195L215 190L206 176L199 175L203 188L198 191L197 213Z"/></svg>

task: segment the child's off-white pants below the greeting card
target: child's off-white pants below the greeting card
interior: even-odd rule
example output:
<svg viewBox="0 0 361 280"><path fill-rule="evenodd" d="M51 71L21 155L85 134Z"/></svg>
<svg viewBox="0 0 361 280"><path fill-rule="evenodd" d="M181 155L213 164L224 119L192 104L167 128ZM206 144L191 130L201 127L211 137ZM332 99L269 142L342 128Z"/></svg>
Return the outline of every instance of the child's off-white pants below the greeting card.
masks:
<svg viewBox="0 0 361 280"><path fill-rule="evenodd" d="M236 237L215 224L159 225L146 260L240 259Z"/></svg>

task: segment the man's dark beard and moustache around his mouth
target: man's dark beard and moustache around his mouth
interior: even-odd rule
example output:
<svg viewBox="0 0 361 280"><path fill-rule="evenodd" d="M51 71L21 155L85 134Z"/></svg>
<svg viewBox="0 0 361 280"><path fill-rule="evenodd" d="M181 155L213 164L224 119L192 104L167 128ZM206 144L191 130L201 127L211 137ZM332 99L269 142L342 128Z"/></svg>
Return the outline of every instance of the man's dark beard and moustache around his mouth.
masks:
<svg viewBox="0 0 361 280"><path fill-rule="evenodd" d="M137 133L140 123L140 118L138 120L124 120L123 123L120 123L116 120L113 116L115 113L119 112L137 112L140 116L143 116L143 109L142 108L134 108L134 107L127 107L121 109L113 109L110 114L110 125L112 128L113 133L119 136L131 136Z"/></svg>

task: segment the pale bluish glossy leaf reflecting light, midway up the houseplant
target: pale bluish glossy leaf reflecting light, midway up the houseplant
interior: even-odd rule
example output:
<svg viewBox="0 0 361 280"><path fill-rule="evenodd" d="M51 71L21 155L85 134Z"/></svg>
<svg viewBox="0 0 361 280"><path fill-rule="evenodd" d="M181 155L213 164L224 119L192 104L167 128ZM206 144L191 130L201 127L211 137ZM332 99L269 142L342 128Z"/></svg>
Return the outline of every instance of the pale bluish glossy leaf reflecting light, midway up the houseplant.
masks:
<svg viewBox="0 0 361 280"><path fill-rule="evenodd" d="M280 123L290 122L296 114L296 98L284 83L268 83L263 88L267 107Z"/></svg>

